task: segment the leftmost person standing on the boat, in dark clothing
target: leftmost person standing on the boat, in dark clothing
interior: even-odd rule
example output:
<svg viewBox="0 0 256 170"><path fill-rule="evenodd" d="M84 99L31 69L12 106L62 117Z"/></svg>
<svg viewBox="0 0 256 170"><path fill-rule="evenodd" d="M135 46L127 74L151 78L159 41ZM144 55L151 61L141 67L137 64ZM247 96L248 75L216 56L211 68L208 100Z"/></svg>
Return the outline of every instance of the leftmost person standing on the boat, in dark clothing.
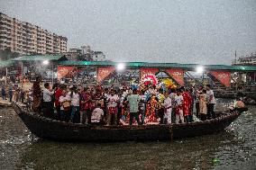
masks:
<svg viewBox="0 0 256 170"><path fill-rule="evenodd" d="M34 112L41 113L41 76L36 77L36 81L32 85L33 103L32 109Z"/></svg>

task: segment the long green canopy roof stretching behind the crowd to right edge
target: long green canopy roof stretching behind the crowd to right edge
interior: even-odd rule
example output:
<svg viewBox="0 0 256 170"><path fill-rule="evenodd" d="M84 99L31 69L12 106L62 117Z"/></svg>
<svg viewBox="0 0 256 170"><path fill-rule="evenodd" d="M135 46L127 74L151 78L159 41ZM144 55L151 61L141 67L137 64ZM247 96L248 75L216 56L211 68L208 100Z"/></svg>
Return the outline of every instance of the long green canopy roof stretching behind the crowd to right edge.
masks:
<svg viewBox="0 0 256 170"><path fill-rule="evenodd" d="M117 66L119 62L113 61L59 61L62 66ZM198 66L208 70L233 70L233 71L256 71L254 66L227 66L227 65L198 65L198 64L178 64L178 63L148 63L148 62L126 62L126 67L159 67L159 68L184 68L188 71L195 71Z"/></svg>

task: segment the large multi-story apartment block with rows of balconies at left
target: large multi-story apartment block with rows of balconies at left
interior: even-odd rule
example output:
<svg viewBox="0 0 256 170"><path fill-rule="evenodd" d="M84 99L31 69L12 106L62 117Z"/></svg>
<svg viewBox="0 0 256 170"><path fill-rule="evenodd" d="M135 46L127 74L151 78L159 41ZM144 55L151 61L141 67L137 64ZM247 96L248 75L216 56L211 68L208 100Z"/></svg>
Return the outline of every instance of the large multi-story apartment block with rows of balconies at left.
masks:
<svg viewBox="0 0 256 170"><path fill-rule="evenodd" d="M66 37L0 13L0 49L21 54L67 52Z"/></svg>

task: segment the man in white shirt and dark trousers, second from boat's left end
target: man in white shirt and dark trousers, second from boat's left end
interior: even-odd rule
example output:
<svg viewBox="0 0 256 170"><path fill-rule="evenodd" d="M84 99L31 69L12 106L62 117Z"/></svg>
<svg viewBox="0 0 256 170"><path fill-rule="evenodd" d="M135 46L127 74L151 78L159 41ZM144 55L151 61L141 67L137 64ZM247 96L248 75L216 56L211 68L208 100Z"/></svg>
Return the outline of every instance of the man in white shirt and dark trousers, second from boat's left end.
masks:
<svg viewBox="0 0 256 170"><path fill-rule="evenodd" d="M54 94L52 90L50 90L49 83L44 84L44 89L42 92L42 106L43 106L43 115L45 117L51 118L53 116L53 104L51 102L51 96Z"/></svg>

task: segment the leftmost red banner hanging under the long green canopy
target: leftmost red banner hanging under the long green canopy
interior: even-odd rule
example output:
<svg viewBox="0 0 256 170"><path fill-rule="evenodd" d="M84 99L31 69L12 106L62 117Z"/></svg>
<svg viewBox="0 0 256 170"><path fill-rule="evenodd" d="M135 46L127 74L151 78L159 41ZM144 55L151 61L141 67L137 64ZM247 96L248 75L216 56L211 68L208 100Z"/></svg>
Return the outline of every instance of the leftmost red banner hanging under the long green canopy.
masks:
<svg viewBox="0 0 256 170"><path fill-rule="evenodd" d="M76 67L58 67L57 69L58 80L63 77L71 78L77 75Z"/></svg>

